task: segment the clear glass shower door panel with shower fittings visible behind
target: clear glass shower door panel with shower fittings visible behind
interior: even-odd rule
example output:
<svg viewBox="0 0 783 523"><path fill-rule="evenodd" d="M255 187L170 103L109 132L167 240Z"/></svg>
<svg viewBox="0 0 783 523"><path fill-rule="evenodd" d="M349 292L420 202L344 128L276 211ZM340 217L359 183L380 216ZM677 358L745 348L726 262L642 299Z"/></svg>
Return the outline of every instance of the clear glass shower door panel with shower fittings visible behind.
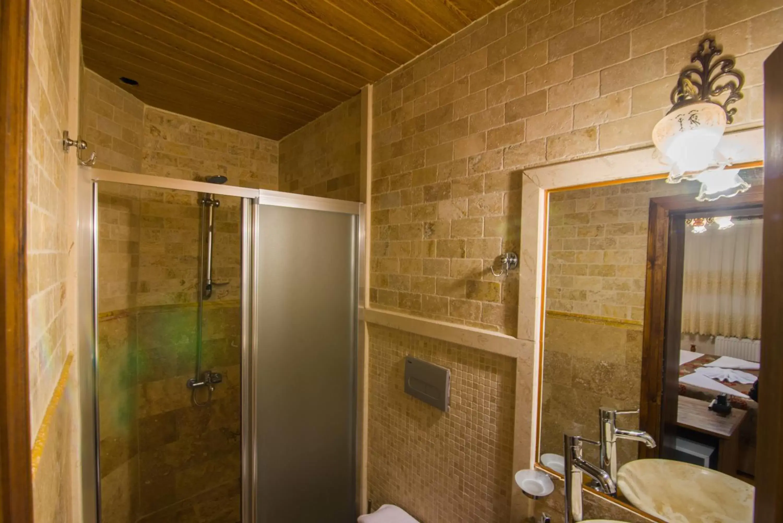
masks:
<svg viewBox="0 0 783 523"><path fill-rule="evenodd" d="M97 186L100 521L238 523L242 198L214 198L204 296L205 195Z"/></svg>

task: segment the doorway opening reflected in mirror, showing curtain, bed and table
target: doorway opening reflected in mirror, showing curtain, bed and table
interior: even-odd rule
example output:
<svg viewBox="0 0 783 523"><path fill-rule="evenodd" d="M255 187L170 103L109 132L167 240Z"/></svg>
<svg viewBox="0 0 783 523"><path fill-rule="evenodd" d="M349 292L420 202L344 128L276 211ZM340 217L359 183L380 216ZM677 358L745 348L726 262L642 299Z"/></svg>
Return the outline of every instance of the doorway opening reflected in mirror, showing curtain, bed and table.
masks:
<svg viewBox="0 0 783 523"><path fill-rule="evenodd" d="M760 211L686 218L684 260L673 267L683 271L683 292L672 457L749 482L761 360Z"/></svg>

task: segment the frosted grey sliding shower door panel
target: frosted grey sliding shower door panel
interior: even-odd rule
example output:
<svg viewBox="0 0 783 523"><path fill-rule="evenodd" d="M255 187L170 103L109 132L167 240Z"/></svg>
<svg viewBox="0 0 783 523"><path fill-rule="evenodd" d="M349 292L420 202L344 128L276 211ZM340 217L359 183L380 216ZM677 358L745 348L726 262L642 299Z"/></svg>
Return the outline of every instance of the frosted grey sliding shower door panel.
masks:
<svg viewBox="0 0 783 523"><path fill-rule="evenodd" d="M258 523L355 521L356 217L259 213Z"/></svg>

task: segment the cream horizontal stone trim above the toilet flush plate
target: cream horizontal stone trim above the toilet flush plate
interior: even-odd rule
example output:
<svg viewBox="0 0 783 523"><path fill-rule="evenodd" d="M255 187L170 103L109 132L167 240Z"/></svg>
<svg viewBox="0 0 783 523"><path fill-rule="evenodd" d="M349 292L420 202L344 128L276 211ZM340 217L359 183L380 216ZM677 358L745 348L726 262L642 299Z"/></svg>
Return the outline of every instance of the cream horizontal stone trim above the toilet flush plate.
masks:
<svg viewBox="0 0 783 523"><path fill-rule="evenodd" d="M419 336L428 336L435 340L458 343L466 347L486 350L494 354L503 354L510 358L518 358L522 354L525 340L518 340L514 336L489 332L482 329L474 329L456 323L446 323L428 318L417 318L408 314L399 314L380 309L364 309L360 311L361 318L367 323L383 325L391 329L399 329L413 332Z"/></svg>

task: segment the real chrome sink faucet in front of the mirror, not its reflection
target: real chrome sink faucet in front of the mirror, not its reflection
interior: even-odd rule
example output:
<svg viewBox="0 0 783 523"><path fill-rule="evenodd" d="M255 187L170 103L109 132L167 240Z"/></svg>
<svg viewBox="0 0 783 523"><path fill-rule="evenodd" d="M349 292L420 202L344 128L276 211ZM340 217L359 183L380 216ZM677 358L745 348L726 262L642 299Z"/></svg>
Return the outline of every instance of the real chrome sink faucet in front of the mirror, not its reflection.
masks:
<svg viewBox="0 0 783 523"><path fill-rule="evenodd" d="M563 434L565 454L565 523L583 520L582 483L583 474L587 474L598 483L598 488L608 496L617 492L615 481L606 470L596 467L582 457L582 444L600 445L598 441Z"/></svg>

